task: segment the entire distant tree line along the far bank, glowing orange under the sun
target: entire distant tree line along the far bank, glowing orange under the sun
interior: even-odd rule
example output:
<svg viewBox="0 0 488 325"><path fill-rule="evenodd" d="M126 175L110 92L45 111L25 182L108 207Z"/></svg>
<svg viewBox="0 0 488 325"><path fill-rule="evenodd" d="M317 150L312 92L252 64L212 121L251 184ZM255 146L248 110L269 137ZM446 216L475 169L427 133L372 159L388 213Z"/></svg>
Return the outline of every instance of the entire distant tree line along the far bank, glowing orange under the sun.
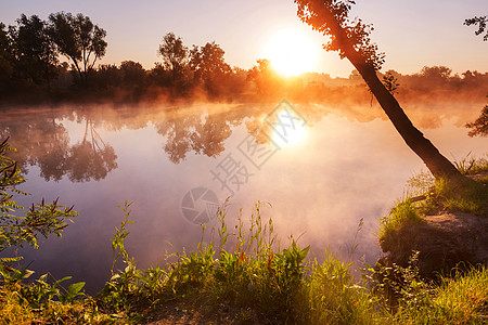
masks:
<svg viewBox="0 0 488 325"><path fill-rule="evenodd" d="M359 74L332 78L308 73L282 77L268 60L251 69L230 66L216 42L188 47L168 32L151 69L133 61L99 64L106 31L82 14L54 13L47 21L21 15L14 26L0 23L0 107L62 103L160 103L176 101L371 104ZM129 46L129 44L128 44ZM453 74L446 66L424 67L413 75L381 74L402 102L468 101L487 94L488 73Z"/></svg>

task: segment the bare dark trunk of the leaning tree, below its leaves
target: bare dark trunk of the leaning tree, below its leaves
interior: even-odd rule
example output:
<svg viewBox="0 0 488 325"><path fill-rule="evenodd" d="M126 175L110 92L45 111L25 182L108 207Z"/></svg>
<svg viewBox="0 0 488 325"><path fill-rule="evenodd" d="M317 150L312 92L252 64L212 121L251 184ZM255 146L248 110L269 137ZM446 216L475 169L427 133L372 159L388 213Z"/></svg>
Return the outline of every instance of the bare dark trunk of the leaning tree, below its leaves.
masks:
<svg viewBox="0 0 488 325"><path fill-rule="evenodd" d="M424 161L433 176L436 179L441 177L462 177L454 165L442 156L434 144L424 138L424 134L412 125L397 100L377 78L376 70L365 63L364 58L352 48L349 48L349 51L346 51L346 53L349 61L371 89L383 110L391 120L395 129L400 133L407 145Z"/></svg>

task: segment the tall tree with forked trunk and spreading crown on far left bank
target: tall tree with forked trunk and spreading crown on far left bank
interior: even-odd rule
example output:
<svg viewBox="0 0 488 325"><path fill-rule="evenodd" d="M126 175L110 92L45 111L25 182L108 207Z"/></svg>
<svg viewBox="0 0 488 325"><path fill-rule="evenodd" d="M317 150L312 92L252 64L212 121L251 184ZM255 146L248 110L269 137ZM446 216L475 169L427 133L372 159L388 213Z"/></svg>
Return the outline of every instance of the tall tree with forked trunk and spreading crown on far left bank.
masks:
<svg viewBox="0 0 488 325"><path fill-rule="evenodd" d="M87 84L88 74L95 62L105 55L106 31L93 25L88 16L59 12L49 15L50 34L60 53L68 57L82 84Z"/></svg>

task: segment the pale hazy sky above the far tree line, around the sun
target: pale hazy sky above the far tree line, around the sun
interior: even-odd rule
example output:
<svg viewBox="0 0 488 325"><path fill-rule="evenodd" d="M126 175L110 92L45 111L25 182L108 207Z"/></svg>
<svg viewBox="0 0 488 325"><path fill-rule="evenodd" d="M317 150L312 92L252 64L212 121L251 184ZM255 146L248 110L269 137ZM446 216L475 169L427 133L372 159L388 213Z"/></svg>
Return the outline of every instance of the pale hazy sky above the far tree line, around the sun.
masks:
<svg viewBox="0 0 488 325"><path fill-rule="evenodd" d="M454 73L488 72L488 41L465 18L488 15L486 0L358 0L352 15L373 24L372 39L386 53L384 70L414 74L445 65ZM326 38L299 21L292 0L0 0L0 22L15 24L22 13L47 20L55 12L82 13L107 31L101 63L140 62L152 68L163 37L172 31L188 47L215 41L232 66L251 68L268 58L277 34L294 30L307 39L313 69L347 77L352 66L321 49ZM296 49L288 44L290 51ZM311 60L311 58L306 58Z"/></svg>

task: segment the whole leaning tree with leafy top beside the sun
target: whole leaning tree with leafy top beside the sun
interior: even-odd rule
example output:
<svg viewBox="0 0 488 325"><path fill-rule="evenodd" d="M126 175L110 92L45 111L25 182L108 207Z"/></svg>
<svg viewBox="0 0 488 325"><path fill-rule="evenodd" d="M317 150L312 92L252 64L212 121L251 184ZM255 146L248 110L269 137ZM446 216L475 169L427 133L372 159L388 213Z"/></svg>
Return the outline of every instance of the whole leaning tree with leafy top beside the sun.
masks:
<svg viewBox="0 0 488 325"><path fill-rule="evenodd" d="M325 50L338 51L341 58L347 57L356 67L398 133L434 177L461 177L458 169L412 125L395 96L378 79L376 72L384 63L384 54L370 39L372 26L360 18L349 18L355 1L294 1L300 20L330 38Z"/></svg>

